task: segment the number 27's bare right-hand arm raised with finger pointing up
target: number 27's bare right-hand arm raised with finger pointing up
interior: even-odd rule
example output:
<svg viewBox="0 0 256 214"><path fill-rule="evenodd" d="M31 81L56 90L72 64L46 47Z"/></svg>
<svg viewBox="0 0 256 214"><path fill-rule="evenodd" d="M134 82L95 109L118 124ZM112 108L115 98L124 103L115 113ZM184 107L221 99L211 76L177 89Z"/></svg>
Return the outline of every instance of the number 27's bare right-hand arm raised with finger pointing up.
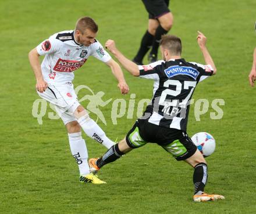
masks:
<svg viewBox="0 0 256 214"><path fill-rule="evenodd" d="M217 69L216 69L216 67L214 65L214 60L212 60L212 57L209 54L208 49L207 49L207 47L205 45L207 38L200 31L197 31L197 33L198 33L198 35L197 35L197 42L198 42L198 45L199 45L199 47L201 49L202 55L204 55L205 63L207 65L211 65L212 68L214 69L214 73L213 74L216 74Z"/></svg>

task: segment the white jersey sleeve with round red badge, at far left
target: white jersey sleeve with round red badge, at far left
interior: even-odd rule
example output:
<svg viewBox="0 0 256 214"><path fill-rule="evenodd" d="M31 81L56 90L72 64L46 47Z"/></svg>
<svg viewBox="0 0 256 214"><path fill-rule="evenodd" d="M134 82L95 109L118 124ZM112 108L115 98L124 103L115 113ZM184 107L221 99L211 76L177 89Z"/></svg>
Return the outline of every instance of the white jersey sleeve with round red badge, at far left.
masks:
<svg viewBox="0 0 256 214"><path fill-rule="evenodd" d="M52 35L37 46L37 52L40 56L53 54L61 49L62 42L56 39L56 35Z"/></svg>

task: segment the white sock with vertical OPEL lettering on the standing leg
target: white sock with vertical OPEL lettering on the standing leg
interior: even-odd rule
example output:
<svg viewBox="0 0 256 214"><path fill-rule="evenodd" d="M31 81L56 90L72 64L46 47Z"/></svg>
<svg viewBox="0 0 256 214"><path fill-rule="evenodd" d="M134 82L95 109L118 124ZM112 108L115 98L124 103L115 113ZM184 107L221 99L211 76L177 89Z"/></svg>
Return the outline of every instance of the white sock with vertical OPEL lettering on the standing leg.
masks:
<svg viewBox="0 0 256 214"><path fill-rule="evenodd" d="M86 148L86 141L81 136L81 132L69 134L69 145L72 156L76 159L76 163L79 167L80 175L86 175L90 173L88 166L88 152Z"/></svg>

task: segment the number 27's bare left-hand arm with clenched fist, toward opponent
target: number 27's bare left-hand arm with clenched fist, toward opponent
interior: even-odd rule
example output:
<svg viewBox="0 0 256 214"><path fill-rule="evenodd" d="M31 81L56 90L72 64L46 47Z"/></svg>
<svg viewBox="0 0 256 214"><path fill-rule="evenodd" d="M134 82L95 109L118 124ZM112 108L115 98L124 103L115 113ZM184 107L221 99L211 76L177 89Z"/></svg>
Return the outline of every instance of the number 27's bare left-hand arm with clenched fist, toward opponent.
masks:
<svg viewBox="0 0 256 214"><path fill-rule="evenodd" d="M121 63L125 69L132 74L133 76L140 76L140 70L138 70L138 66L136 63L131 62L131 60L127 59L119 50L116 48L115 41L108 40L105 44L106 49L108 49L116 59Z"/></svg>

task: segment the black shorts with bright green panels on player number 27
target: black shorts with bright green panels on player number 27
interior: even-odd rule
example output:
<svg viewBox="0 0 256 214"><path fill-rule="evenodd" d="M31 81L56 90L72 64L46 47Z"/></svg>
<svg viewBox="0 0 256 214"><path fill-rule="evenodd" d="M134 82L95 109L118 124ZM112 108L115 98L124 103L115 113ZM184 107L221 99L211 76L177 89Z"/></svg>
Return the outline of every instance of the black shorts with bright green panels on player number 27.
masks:
<svg viewBox="0 0 256 214"><path fill-rule="evenodd" d="M148 142L160 145L172 154L177 161L190 158L197 147L186 131L169 129L138 119L126 135L126 142L131 148L139 148Z"/></svg>

